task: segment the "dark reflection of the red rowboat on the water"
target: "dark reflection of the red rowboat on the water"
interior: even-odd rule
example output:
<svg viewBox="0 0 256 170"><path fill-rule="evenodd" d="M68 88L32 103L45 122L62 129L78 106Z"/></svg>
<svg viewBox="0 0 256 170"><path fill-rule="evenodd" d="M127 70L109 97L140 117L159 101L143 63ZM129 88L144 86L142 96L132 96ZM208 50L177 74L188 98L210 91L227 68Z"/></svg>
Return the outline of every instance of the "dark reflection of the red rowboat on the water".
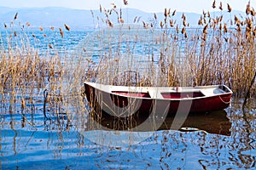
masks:
<svg viewBox="0 0 256 170"><path fill-rule="evenodd" d="M103 113L103 115L104 114L105 113ZM181 132L205 131L207 133L230 136L231 122L225 110L198 114L193 113L182 118L183 122L180 127L176 129L173 128L173 123L177 123L175 122L176 117L167 116L162 120L157 130L179 130ZM139 127L141 125L143 125L143 128ZM142 118L141 120L133 119L129 122L123 122L119 117L105 115L100 120L96 120L93 116L88 117L86 130L129 130L132 132L143 132L154 130L154 127L154 120L147 122L145 118Z"/></svg>

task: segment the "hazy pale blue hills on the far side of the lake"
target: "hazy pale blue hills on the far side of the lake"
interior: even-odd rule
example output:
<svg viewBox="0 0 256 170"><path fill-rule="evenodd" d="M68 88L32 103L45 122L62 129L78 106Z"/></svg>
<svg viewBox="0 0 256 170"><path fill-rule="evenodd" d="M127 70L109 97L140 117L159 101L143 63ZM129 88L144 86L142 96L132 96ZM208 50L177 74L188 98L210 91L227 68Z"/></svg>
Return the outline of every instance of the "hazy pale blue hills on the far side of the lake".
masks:
<svg viewBox="0 0 256 170"><path fill-rule="evenodd" d="M119 9L117 9L119 12ZM92 10L94 17L90 10L73 9L73 8L59 8L59 7L49 7L49 8L6 8L0 7L0 29L3 28L4 24L9 26L9 23L14 20L15 14L18 13L18 18L15 20L15 25L24 25L26 22L31 24L31 27L49 27L55 26L60 27L65 23L71 28L93 28L97 26L97 18L105 20L106 16L100 13L99 10ZM177 12L173 17L173 20L177 20L177 24L182 25L182 12ZM187 22L190 26L197 26L197 22L201 14L195 13L184 13L187 18ZM244 16L241 11L232 11L232 13L223 12L224 20L234 19L234 14L237 16ZM220 12L215 12L212 16L218 16ZM158 13L158 20L164 19L163 13ZM148 21L154 19L154 14L146 13L135 8L123 8L122 18L125 23L133 23L135 17L140 18L140 23L142 21ZM117 15L111 15L111 20L117 21Z"/></svg>

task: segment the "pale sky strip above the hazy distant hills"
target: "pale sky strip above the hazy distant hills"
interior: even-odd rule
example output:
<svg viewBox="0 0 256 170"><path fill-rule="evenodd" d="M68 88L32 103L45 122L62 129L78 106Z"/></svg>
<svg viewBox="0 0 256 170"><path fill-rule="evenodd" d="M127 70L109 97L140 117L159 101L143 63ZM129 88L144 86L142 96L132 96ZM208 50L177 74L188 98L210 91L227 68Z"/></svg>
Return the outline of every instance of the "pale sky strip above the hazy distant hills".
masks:
<svg viewBox="0 0 256 170"><path fill-rule="evenodd" d="M216 0L214 10L218 10L219 3L223 3L223 8L227 9L227 3L232 9L245 11L249 0ZM125 6L123 0L0 0L0 6L11 8L31 8L31 7L66 7L79 9L111 8L111 3L118 8L138 8L145 12L163 12L165 8L176 9L180 12L200 13L212 11L213 0L128 0ZM256 0L251 0L251 7L256 9Z"/></svg>

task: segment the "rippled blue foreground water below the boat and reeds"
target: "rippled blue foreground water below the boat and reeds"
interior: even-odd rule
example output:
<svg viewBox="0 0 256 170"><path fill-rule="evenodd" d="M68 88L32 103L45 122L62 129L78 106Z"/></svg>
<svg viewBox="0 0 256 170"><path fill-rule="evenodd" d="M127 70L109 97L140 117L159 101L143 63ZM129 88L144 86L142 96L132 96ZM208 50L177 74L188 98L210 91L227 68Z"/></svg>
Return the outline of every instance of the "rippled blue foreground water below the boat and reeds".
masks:
<svg viewBox="0 0 256 170"><path fill-rule="evenodd" d="M67 124L65 119L44 121L43 114L37 112L23 115L26 117L24 122L20 114L1 116L0 165L3 169L255 167L255 123L248 125L242 119L233 120L230 136L174 130L81 133L75 122ZM119 142L133 133L148 137L137 144L130 139L132 145L129 141L125 144Z"/></svg>

